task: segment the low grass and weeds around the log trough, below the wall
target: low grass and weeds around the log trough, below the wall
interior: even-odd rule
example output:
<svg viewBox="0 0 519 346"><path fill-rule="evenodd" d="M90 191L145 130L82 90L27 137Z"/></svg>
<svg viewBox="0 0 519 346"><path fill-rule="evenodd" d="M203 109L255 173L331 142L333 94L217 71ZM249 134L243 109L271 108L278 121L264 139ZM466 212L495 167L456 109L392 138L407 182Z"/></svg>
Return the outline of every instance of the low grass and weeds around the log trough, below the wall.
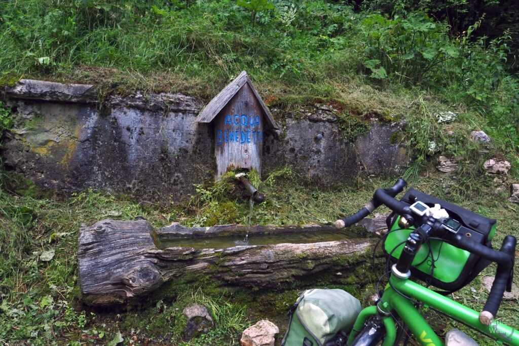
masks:
<svg viewBox="0 0 519 346"><path fill-rule="evenodd" d="M423 108L420 112L430 113L421 105L422 102L417 101L416 105ZM438 122L433 113L429 121L432 123L434 119ZM430 132L467 121L460 114L454 121L431 125ZM427 133L426 128L420 131ZM439 141L441 136L431 138ZM348 215L360 209L371 198L375 188L393 182L393 179L373 178L372 181L359 181L355 186L323 190L306 186L304 180L288 168L270 172L264 177L263 183L257 185L265 193L266 202L254 206L254 224L331 223L338 215ZM226 178L223 178L224 183ZM249 172L249 178L256 182L257 173ZM91 190L78 193L70 200L27 196L19 190L17 195L11 195L0 190L0 338L7 343L42 345L78 339L107 344L120 338L131 340L136 334L152 337L158 342L182 344L180 338L186 323L182 310L190 302L208 307L215 328L186 345L236 344L240 331L256 318L267 317L286 323L285 312L296 298L294 292L268 292L261 300L250 298L251 293L247 291L239 297L230 293L222 295L222 291L213 292L210 284L197 289L179 281L171 283L174 288L171 293L163 292L163 300L143 301L145 309L140 311L120 311L117 315L74 309L79 290L76 252L80 224L92 224L105 217L133 219L136 215L143 215L154 227L163 227L181 218L184 218L184 223L194 223L206 205L230 200L233 200L238 213L229 221L245 223L249 214L247 198L241 198L234 189L222 187L224 183L200 190L196 208L194 204L144 208L125 198ZM506 230L507 233L519 234L517 208L513 203L503 204L507 196L488 198L497 187L493 177L460 174L453 181L430 173L427 177L411 179L409 184L488 217L498 218L501 233ZM502 235L498 234L498 237L502 238ZM45 251L54 251L49 261L40 257ZM353 275L351 279L355 280ZM264 294L261 292L260 297ZM245 299L247 297L251 302ZM501 309L503 318L514 316L513 303L503 302ZM258 311L261 311L259 316Z"/></svg>

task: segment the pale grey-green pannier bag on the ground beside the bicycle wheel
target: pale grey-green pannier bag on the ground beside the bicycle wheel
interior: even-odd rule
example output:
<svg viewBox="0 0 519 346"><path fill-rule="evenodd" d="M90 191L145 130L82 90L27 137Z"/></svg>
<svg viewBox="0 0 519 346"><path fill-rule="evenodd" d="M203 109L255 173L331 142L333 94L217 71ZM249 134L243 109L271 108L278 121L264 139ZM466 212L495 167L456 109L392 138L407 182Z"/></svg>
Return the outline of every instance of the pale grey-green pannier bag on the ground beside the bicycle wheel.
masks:
<svg viewBox="0 0 519 346"><path fill-rule="evenodd" d="M360 301L342 289L305 290L289 311L289 328L282 346L323 346L340 331L349 333Z"/></svg>

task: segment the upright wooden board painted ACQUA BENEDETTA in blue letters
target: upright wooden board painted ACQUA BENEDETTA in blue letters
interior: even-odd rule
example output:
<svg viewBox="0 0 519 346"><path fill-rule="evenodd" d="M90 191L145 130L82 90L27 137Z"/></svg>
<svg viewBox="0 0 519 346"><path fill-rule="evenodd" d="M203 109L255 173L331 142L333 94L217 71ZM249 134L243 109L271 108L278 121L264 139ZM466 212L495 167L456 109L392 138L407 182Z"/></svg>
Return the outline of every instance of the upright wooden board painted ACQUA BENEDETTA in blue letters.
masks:
<svg viewBox="0 0 519 346"><path fill-rule="evenodd" d="M255 169L261 174L264 112L244 84L215 119L216 178L228 169Z"/></svg>

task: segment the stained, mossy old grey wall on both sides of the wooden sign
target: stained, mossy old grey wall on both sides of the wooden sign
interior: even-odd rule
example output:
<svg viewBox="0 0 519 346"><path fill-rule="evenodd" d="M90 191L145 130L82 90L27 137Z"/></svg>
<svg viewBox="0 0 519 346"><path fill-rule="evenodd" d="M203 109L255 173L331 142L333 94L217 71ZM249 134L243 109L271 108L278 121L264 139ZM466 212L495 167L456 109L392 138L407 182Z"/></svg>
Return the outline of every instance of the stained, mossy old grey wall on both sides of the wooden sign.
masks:
<svg viewBox="0 0 519 346"><path fill-rule="evenodd" d="M92 86L21 80L0 97L12 110L2 157L7 170L65 194L94 188L149 202L181 202L193 184L214 178L211 124L195 122L204 105L182 94L111 96L99 104ZM374 123L356 143L332 112L286 118L267 133L263 172L288 165L324 184L360 173L386 174L405 162L390 137L402 124Z"/></svg>

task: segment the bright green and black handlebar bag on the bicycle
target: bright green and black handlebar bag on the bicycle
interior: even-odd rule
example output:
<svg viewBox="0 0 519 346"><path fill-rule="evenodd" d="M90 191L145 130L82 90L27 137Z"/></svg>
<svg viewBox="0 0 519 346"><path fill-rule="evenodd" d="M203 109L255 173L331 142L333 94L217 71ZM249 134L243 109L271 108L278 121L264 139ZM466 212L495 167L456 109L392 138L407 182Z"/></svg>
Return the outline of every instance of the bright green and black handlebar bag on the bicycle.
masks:
<svg viewBox="0 0 519 346"><path fill-rule="evenodd" d="M413 188L409 189L401 199L409 205L416 201L426 203L432 207L440 204L453 218L461 223L461 232L465 237L492 247L491 240L496 234L496 220L489 219L458 205L440 200ZM392 213L386 220L389 232L384 240L383 250L386 256L391 256L396 261L405 245L405 241L414 229L401 229L398 225L400 215ZM448 232L448 231L446 231ZM455 292L469 284L490 261L474 255L466 250L461 250L446 241L430 239L422 244L413 261L412 275L436 288L447 292Z"/></svg>

